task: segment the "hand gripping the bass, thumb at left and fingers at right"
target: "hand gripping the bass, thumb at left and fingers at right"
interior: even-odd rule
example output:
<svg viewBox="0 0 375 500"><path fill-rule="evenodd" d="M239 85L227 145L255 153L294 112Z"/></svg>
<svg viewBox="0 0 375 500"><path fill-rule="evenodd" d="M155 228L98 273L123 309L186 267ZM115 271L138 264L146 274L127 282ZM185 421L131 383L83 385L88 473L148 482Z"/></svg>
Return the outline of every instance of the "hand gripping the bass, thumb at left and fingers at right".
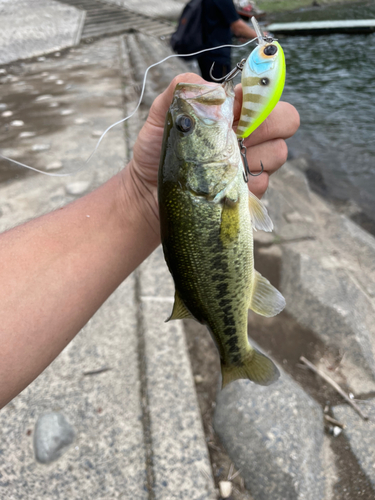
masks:
<svg viewBox="0 0 375 500"><path fill-rule="evenodd" d="M177 83L206 83L194 73L185 73L175 77L169 87L160 94L151 106L146 123L142 127L133 148L133 159L129 164L131 180L135 184L138 200L147 208L150 223L158 226L157 179L159 158L162 148L164 123L168 108L172 102ZM234 128L237 126L241 106L242 90L235 89ZM250 171L260 172L260 161L264 172L258 177L249 178L249 189L259 198L265 193L269 176L280 168L287 159L288 149L285 139L291 137L299 127L299 115L294 106L279 102L269 117L245 139L247 160Z"/></svg>

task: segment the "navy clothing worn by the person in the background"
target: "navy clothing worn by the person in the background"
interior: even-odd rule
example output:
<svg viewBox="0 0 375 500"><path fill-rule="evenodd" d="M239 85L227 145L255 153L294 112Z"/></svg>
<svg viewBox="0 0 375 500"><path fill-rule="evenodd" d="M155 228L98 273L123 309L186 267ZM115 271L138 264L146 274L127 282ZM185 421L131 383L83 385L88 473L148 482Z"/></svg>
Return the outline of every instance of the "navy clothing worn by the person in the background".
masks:
<svg viewBox="0 0 375 500"><path fill-rule="evenodd" d="M205 48L232 43L230 25L239 18L233 0L203 0L202 29ZM230 66L229 47L206 52L204 57Z"/></svg>

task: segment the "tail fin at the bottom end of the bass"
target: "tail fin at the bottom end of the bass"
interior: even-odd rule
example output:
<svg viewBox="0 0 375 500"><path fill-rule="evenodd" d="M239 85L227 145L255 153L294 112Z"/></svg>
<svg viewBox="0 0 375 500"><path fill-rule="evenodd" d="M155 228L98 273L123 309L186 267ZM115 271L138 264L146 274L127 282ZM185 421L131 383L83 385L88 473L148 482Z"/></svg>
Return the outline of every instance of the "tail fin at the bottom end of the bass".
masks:
<svg viewBox="0 0 375 500"><path fill-rule="evenodd" d="M222 389L234 380L249 379L255 384L270 385L280 376L273 361L255 347L251 347L249 355L241 366L221 365Z"/></svg>

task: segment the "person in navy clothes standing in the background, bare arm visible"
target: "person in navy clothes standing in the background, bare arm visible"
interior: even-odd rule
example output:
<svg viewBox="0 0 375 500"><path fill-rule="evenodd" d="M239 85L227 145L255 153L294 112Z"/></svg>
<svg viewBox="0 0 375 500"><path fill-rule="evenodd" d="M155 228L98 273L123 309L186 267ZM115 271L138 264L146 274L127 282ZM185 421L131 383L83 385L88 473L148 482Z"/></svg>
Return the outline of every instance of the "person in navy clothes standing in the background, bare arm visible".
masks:
<svg viewBox="0 0 375 500"><path fill-rule="evenodd" d="M246 39L256 37L255 31L240 19L233 0L203 0L202 30L206 49L231 44L232 35ZM213 63L214 78L222 78L229 73L232 67L230 47L212 50L198 57L202 77L210 82L213 81L210 75Z"/></svg>

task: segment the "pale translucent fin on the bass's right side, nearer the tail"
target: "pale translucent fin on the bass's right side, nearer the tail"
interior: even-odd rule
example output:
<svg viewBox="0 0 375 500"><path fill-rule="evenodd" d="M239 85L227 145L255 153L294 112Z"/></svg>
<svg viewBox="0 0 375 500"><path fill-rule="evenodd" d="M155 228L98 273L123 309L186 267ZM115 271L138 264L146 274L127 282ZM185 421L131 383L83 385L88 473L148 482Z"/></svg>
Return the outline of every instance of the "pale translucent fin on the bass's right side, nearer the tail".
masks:
<svg viewBox="0 0 375 500"><path fill-rule="evenodd" d="M258 271L254 271L253 293L249 308L262 316L276 316L285 307L285 299Z"/></svg>

